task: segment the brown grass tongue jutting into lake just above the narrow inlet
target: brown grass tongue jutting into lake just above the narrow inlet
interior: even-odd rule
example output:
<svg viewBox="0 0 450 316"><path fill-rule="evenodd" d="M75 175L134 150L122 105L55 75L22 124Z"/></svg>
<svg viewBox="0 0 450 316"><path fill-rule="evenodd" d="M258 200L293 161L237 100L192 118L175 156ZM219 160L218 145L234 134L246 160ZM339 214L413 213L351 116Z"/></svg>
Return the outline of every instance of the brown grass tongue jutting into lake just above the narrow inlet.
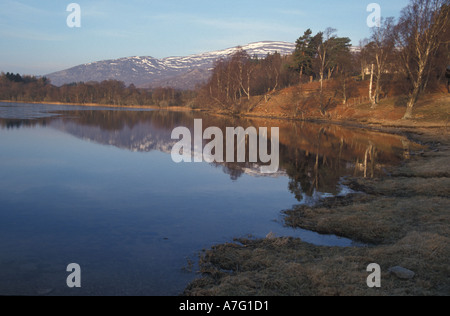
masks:
<svg viewBox="0 0 450 316"><path fill-rule="evenodd" d="M449 188L449 187L447 187ZM286 223L370 244L390 244L410 231L433 231L450 237L450 199L380 196L351 205L301 207L286 211Z"/></svg>

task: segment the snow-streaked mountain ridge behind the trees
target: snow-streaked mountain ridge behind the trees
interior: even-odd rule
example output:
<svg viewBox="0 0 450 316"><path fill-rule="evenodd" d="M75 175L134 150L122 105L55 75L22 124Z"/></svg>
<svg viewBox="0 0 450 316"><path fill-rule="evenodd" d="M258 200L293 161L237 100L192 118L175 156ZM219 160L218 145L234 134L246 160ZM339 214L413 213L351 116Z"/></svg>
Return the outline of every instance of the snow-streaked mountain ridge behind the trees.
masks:
<svg viewBox="0 0 450 316"><path fill-rule="evenodd" d="M231 56L238 47L185 57L157 59L149 56L104 60L76 66L46 75L57 86L73 82L114 79L142 88L173 87L192 89L208 80L214 62ZM242 46L250 56L264 58L268 53L287 55L295 44L287 42L257 42Z"/></svg>

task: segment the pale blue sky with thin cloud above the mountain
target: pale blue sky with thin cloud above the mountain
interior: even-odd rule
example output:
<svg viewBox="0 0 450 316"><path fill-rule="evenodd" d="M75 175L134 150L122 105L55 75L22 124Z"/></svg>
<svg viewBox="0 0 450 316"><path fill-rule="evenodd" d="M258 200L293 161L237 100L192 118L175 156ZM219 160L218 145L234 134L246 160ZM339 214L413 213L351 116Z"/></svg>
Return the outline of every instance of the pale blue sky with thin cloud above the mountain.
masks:
<svg viewBox="0 0 450 316"><path fill-rule="evenodd" d="M367 11L398 17L408 0L1 0L0 71L45 75L130 56L164 58L258 41L295 42L311 28L337 29L358 45ZM81 27L66 11L80 6Z"/></svg>

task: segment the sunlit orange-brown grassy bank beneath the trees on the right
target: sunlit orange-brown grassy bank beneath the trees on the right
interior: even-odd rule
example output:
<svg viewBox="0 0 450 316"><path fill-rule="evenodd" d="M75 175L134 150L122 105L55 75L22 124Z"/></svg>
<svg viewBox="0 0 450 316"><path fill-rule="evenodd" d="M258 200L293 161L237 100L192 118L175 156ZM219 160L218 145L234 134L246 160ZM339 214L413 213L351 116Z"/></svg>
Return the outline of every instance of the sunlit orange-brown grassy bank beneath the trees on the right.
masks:
<svg viewBox="0 0 450 316"><path fill-rule="evenodd" d="M318 122L334 122L381 127L448 127L450 125L450 94L433 93L421 97L414 110L413 120L402 120L406 110L404 96L382 99L372 108L367 100L361 103L339 104L330 108L324 116L317 103L301 105L302 92L296 87L277 92L265 102L254 98L252 110L242 112L243 117L282 118Z"/></svg>

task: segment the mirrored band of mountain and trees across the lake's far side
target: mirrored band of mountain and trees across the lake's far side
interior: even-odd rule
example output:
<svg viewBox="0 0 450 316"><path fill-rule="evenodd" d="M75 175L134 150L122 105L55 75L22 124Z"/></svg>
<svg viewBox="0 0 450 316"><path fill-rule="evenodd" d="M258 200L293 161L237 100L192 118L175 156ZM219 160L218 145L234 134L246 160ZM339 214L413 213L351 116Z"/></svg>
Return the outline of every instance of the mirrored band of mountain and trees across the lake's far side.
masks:
<svg viewBox="0 0 450 316"><path fill-rule="evenodd" d="M68 108L70 109L70 108ZM280 128L280 172L289 176L289 190L307 202L319 192L338 194L344 176L376 177L383 169L408 158L410 142L401 136L336 125L285 120L244 120L201 113L168 111L67 110L59 117L36 120L0 120L0 126L20 128L33 124L51 126L78 138L130 151L170 153L175 127L193 129L194 118L203 128L249 126ZM225 134L225 133L224 133ZM224 146L225 148L225 146ZM253 163L215 163L232 179L243 174L259 176Z"/></svg>

